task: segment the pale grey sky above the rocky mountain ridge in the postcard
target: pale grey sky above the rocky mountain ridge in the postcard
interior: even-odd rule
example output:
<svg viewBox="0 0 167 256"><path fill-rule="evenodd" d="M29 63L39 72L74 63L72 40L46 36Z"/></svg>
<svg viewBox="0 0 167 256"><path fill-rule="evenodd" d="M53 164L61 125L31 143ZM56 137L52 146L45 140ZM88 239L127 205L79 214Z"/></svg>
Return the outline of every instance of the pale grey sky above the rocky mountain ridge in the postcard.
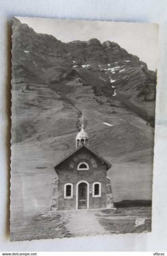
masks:
<svg viewBox="0 0 167 256"><path fill-rule="evenodd" d="M35 32L53 35L65 43L91 38L97 38L101 43L107 40L116 42L146 62L148 69L155 71L157 68L159 27L155 23L16 18Z"/></svg>

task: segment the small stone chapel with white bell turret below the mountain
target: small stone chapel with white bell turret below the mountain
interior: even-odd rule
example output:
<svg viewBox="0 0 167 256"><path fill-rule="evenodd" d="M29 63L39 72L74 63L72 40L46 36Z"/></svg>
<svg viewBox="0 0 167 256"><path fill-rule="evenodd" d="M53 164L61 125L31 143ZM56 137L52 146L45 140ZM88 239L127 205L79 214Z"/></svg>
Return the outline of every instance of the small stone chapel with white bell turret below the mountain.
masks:
<svg viewBox="0 0 167 256"><path fill-rule="evenodd" d="M111 163L89 149L89 136L82 124L76 149L54 165L55 179L50 210L114 208Z"/></svg>

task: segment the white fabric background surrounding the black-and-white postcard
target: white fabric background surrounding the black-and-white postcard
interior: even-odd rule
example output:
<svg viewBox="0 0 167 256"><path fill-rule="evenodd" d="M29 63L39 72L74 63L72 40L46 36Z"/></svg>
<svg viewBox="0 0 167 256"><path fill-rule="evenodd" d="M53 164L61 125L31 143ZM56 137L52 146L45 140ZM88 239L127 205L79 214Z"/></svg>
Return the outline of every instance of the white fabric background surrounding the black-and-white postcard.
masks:
<svg viewBox="0 0 167 256"><path fill-rule="evenodd" d="M13 16L159 23L152 232L10 242L10 36ZM167 1L1 0L0 251L167 251Z"/></svg>

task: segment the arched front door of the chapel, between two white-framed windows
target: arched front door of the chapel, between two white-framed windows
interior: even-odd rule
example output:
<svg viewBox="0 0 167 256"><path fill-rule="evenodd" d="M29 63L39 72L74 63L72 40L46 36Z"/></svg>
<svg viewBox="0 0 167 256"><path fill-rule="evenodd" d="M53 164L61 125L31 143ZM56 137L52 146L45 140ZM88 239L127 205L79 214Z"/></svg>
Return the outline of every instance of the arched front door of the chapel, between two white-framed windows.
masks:
<svg viewBox="0 0 167 256"><path fill-rule="evenodd" d="M87 184L80 183L78 185L78 209L87 208Z"/></svg>

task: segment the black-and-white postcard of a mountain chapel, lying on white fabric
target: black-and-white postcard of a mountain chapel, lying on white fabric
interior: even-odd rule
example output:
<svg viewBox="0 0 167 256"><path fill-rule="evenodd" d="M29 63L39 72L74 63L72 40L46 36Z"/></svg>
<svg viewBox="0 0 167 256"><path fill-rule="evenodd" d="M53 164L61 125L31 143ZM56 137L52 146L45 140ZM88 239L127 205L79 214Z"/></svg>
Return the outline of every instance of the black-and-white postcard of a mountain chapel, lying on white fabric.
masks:
<svg viewBox="0 0 167 256"><path fill-rule="evenodd" d="M151 232L158 32L13 18L12 241Z"/></svg>

